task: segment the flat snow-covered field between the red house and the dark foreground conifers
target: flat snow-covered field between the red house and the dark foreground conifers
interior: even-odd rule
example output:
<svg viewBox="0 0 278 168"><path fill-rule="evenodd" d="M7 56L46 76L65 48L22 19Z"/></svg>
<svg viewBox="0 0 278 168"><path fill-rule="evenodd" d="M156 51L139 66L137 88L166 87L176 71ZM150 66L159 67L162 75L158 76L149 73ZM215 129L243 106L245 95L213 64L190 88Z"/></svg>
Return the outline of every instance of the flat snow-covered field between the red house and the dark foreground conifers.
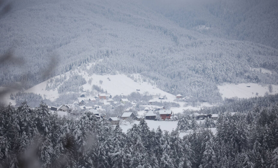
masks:
<svg viewBox="0 0 278 168"><path fill-rule="evenodd" d="M145 120L148 124L148 127L150 130L154 129L156 130L158 126L160 126L161 130L166 130L171 132L172 130L175 130L178 124L178 121L154 121L154 120ZM200 123L200 120L197 120L197 123ZM139 124L139 121L135 121L133 124ZM126 125L121 124L120 127L123 129L123 132L127 133L127 130L132 127L133 124L126 123ZM216 133L216 128L210 128L210 130L213 132L213 134ZM187 132L179 132L179 136L183 137L186 134L192 133L191 130Z"/></svg>

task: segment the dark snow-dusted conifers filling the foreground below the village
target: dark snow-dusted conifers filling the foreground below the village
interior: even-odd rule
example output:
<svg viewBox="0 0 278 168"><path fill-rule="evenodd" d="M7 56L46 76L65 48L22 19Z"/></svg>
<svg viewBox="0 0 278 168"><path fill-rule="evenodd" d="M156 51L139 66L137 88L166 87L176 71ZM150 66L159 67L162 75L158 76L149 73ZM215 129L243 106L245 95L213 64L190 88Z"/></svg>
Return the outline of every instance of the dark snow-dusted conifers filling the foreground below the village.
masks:
<svg viewBox="0 0 278 168"><path fill-rule="evenodd" d="M272 96L265 96L265 99ZM268 100L271 102L271 100ZM1 167L271 167L278 166L278 104L247 113L222 111L216 133L199 127L150 130L143 120L127 133L107 119L50 113L45 103L1 107Z"/></svg>

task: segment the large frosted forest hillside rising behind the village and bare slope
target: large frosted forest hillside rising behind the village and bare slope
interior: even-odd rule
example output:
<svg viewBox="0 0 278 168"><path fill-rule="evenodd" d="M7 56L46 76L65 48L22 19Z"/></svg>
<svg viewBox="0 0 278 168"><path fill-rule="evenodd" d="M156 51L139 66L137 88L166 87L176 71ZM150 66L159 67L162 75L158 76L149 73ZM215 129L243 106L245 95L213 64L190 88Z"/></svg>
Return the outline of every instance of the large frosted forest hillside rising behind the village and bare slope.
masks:
<svg viewBox="0 0 278 168"><path fill-rule="evenodd" d="M30 88L100 59L90 73L140 73L164 91L194 97L220 98L222 82L277 84L277 49L202 35L137 1L16 3L0 19L0 54L11 51L23 64L2 62L1 85Z"/></svg>

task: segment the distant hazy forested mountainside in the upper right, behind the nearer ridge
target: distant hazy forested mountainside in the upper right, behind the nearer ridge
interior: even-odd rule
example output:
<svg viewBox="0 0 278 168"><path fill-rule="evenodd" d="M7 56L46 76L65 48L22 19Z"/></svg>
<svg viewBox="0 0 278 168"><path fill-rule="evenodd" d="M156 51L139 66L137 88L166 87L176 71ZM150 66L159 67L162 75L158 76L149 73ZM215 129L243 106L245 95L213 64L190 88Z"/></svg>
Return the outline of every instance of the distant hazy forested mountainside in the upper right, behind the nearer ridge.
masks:
<svg viewBox="0 0 278 168"><path fill-rule="evenodd" d="M181 27L278 48L276 0L155 0L144 4Z"/></svg>

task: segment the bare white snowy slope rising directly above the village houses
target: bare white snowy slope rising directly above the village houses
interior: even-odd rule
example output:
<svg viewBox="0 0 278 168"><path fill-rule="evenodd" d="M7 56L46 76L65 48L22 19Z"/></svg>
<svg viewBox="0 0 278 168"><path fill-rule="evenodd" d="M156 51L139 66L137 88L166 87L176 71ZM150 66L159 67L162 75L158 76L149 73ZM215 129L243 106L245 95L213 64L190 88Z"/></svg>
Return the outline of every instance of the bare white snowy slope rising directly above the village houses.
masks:
<svg viewBox="0 0 278 168"><path fill-rule="evenodd" d="M88 64L87 69L94 63ZM136 90L139 90L140 94L148 94L148 95L160 95L164 96L166 95L167 100L163 101L173 101L175 99L175 96L172 94L169 94L165 91L160 90L157 88L155 85L151 85L151 83L148 82L135 82L133 79L127 77L124 74L117 74L117 75L97 75L97 74L88 74L86 70L81 70L81 67L78 67L76 70L71 70L72 72L77 73L78 75L82 75L82 77L87 81L86 84L82 85L84 91L92 91L92 86L97 85L101 87L104 91L107 91L108 94L115 96L115 95L129 95L132 92L136 92ZM55 76L54 78L60 78L64 77L65 75L67 76L67 79L69 79L69 74L71 72L66 72L62 74L61 76ZM133 74L133 76L136 76L136 79L139 77L139 74ZM89 80L91 79L91 83L89 84ZM102 81L100 83L99 81ZM50 79L47 80L50 82ZM50 99L51 101L54 101L56 98L59 97L59 93L57 91L57 88L54 90L45 90L47 81L41 82L38 85L35 85L34 87L26 90L26 92L33 92L36 94L41 94L43 98ZM98 94L98 93L96 93ZM157 98L155 98L156 101L160 101Z"/></svg>

